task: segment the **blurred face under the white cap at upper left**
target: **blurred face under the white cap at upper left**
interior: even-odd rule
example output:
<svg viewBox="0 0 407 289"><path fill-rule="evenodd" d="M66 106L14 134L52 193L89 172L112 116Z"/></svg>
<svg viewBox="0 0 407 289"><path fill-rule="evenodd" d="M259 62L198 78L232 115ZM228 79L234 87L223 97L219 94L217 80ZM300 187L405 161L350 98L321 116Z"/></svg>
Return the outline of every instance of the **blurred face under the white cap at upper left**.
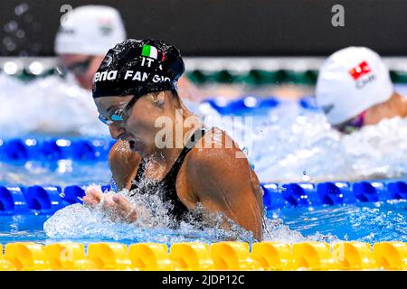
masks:
<svg viewBox="0 0 407 289"><path fill-rule="evenodd" d="M103 60L101 55L59 54L62 65L70 70L83 89L92 89L93 75Z"/></svg>

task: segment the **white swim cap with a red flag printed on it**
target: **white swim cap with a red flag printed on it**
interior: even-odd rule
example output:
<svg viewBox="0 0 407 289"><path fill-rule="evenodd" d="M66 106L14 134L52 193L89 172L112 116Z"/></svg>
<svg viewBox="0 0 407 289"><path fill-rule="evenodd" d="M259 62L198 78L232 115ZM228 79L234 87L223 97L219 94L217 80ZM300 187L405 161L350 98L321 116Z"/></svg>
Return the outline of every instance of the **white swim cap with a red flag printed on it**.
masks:
<svg viewBox="0 0 407 289"><path fill-rule="evenodd" d="M348 47L329 56L319 70L317 104L331 125L391 98L393 84L380 56L365 47Z"/></svg>

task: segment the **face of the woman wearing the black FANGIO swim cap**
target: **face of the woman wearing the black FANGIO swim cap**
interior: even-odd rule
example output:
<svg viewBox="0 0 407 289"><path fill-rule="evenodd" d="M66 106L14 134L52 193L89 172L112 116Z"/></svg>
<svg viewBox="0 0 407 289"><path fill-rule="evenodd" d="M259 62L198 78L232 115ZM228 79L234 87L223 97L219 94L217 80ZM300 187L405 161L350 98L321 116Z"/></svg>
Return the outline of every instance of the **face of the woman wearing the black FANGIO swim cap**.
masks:
<svg viewBox="0 0 407 289"><path fill-rule="evenodd" d="M138 98L135 104L125 110L133 96L95 98L96 107L102 117L112 119L115 114L123 113L123 121L109 124L109 132L114 139L128 141L130 149L143 157L156 151L157 117L163 116L163 109L154 101L153 94ZM114 117L113 117L114 118Z"/></svg>

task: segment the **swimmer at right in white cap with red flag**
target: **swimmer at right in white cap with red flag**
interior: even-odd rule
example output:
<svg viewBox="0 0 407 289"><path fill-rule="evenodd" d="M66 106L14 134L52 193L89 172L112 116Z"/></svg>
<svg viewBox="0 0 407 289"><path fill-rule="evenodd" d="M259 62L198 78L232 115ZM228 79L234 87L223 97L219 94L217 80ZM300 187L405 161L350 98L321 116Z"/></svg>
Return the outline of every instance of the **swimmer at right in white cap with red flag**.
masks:
<svg viewBox="0 0 407 289"><path fill-rule="evenodd" d="M394 91L380 56L365 47L332 54L319 71L316 94L327 120L341 132L407 117L407 98Z"/></svg>

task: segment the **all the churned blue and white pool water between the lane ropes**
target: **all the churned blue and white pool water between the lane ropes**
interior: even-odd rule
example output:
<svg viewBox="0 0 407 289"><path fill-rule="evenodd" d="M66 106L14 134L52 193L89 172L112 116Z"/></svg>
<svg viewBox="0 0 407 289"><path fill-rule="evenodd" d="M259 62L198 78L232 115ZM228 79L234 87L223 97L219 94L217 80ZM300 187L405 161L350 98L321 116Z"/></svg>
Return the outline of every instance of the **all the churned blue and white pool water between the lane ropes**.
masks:
<svg viewBox="0 0 407 289"><path fill-rule="evenodd" d="M43 133L42 130L49 132L45 136L109 138L106 126L100 126L97 121L89 96L60 79L38 79L22 85L0 75L0 86L5 88L0 92L0 100L6 107L6 113L0 116L0 137L3 139L17 136L41 138L44 136L38 136L38 133ZM38 98L23 98L32 91L38 94ZM11 92L14 98L8 98ZM53 98L47 98L50 93ZM43 111L38 103L52 113L38 114ZM69 105L65 106L67 103ZM327 119L317 109L305 108L298 101L279 99L277 107L252 111L251 118L240 116L237 122L233 122L233 118L222 118L208 103L189 105L204 116L208 126L221 127L241 145L260 182L392 178L407 181L407 119L395 117L383 120L377 126L366 126L352 135L340 135L328 126ZM11 112L19 117L13 117ZM0 162L0 185L52 184L64 187L107 183L110 178L106 161L43 162L33 159ZM266 240L407 241L407 205L404 200L285 209L269 211L267 215L270 219L267 220ZM0 243L74 240L85 244L97 241L172 244L196 240L214 242L227 237L227 233L219 228L203 231L185 225L170 230L162 226L112 223L80 204L62 209L51 220L50 217L0 216ZM48 224L45 230L44 223ZM241 240L252 241L245 232L240 233Z"/></svg>

